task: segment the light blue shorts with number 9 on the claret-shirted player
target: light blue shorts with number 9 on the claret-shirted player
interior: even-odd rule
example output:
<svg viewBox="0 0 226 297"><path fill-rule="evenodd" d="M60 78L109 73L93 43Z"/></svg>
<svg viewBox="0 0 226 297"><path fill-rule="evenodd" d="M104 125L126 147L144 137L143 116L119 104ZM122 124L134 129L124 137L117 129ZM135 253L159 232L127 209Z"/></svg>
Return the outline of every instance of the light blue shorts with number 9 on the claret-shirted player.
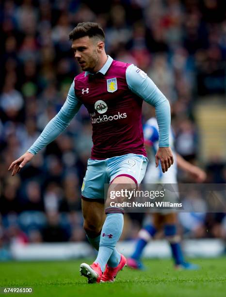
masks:
<svg viewBox="0 0 226 297"><path fill-rule="evenodd" d="M118 176L127 176L139 184L145 176L148 159L143 155L126 154L105 160L88 159L81 187L83 198L104 199L104 184Z"/></svg>

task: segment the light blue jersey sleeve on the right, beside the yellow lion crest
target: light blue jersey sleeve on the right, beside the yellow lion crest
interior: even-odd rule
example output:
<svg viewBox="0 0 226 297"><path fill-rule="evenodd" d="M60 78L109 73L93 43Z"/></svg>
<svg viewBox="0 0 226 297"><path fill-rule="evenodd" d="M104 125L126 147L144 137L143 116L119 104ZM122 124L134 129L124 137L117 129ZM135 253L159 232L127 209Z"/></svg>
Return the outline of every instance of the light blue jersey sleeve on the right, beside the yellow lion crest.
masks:
<svg viewBox="0 0 226 297"><path fill-rule="evenodd" d="M126 70L129 89L155 107L159 126L159 147L169 147L170 104L155 83L137 66L129 65Z"/></svg>

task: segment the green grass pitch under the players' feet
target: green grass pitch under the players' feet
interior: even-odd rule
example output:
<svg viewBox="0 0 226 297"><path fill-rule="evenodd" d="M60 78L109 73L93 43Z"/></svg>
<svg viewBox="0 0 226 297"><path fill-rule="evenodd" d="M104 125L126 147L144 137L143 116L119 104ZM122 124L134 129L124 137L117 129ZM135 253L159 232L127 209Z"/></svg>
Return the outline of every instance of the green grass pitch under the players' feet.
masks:
<svg viewBox="0 0 226 297"><path fill-rule="evenodd" d="M101 284L87 284L80 276L82 262L91 263L87 259L0 263L0 287L33 287L29 295L40 297L226 296L226 258L195 259L193 263L201 267L198 271L176 271L170 260L145 260L146 271L126 267L114 283Z"/></svg>

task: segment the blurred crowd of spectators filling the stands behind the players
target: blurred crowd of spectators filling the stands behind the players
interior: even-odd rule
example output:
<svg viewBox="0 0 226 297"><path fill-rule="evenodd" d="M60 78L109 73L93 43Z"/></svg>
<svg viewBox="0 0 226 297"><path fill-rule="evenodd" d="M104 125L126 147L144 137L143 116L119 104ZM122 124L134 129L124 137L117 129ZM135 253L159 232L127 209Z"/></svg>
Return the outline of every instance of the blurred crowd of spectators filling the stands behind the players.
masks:
<svg viewBox="0 0 226 297"><path fill-rule="evenodd" d="M101 1L98 1L102 4ZM176 148L197 162L194 101L225 93L226 1L3 0L0 4L0 249L9 243L86 240L81 183L92 148L85 108L20 174L7 171L60 110L80 73L68 33L82 21L102 25L106 51L142 68L172 106ZM144 112L144 121L149 114ZM226 164L210 160L206 182L226 182ZM182 176L183 181L186 176ZM225 237L224 214L188 214L191 237ZM124 239L144 218L127 215ZM190 227L189 227L189 226ZM207 232L208 231L208 232Z"/></svg>

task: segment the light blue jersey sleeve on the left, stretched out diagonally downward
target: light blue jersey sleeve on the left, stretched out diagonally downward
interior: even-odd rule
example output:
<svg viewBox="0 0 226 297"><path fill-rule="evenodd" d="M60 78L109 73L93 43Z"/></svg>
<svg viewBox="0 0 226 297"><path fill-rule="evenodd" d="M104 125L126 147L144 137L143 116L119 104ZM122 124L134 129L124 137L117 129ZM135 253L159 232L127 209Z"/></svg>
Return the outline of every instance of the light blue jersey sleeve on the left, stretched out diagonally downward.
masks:
<svg viewBox="0 0 226 297"><path fill-rule="evenodd" d="M57 115L55 115L46 125L43 132L28 149L32 154L36 154L40 149L47 146L69 125L71 119L78 113L81 102L75 96L74 82L71 84L65 104Z"/></svg>

